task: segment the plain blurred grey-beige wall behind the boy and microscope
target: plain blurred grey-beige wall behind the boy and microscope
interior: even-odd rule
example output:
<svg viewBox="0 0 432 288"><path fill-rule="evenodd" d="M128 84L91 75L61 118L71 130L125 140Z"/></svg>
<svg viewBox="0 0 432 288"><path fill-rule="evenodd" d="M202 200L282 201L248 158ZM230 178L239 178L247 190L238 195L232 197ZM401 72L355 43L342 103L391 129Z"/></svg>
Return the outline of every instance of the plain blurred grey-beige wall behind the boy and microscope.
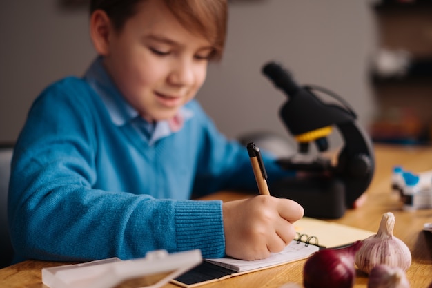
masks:
<svg viewBox="0 0 432 288"><path fill-rule="evenodd" d="M95 52L88 11L58 0L3 1L0 10L0 142L14 142L41 90L82 75ZM376 26L371 0L233 0L222 62L211 64L197 99L228 137L271 131L285 95L261 73L274 60L300 84L342 96L368 126L377 104L369 84Z"/></svg>

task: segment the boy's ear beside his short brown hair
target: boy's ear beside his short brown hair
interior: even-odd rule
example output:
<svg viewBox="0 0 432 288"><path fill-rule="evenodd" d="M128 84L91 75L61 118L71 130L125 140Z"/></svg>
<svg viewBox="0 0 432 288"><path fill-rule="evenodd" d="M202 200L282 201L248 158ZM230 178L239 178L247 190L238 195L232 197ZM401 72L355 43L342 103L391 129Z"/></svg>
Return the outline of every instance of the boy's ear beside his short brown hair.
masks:
<svg viewBox="0 0 432 288"><path fill-rule="evenodd" d="M95 10L90 17L90 37L99 55L108 56L112 30L110 17L104 10Z"/></svg>

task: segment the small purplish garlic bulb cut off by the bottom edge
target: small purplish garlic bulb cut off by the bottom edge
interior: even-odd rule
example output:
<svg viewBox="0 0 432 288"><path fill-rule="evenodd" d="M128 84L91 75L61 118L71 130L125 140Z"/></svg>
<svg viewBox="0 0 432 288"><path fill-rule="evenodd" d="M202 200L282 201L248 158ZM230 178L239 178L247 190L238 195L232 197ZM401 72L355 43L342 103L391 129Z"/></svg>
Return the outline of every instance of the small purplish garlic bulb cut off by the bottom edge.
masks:
<svg viewBox="0 0 432 288"><path fill-rule="evenodd" d="M409 282L399 267L378 264L369 273L368 288L409 288Z"/></svg>

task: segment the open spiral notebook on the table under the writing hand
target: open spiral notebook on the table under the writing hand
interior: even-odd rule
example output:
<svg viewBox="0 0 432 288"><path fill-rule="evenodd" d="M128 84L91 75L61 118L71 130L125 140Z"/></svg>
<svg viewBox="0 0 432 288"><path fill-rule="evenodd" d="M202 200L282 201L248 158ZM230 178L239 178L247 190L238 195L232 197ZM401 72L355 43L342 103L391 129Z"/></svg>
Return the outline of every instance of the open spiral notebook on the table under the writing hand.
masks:
<svg viewBox="0 0 432 288"><path fill-rule="evenodd" d="M355 227L304 217L295 222L297 238L280 253L263 260L205 259L202 264L171 280L186 288L217 282L233 276L268 269L308 258L322 248L344 247L375 233Z"/></svg>

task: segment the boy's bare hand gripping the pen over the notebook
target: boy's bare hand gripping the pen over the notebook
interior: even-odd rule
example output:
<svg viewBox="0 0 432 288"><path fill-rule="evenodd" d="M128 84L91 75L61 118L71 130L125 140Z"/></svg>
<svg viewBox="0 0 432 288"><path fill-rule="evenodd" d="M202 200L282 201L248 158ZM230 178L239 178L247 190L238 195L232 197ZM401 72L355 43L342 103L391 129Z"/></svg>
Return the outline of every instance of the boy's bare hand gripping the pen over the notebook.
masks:
<svg viewBox="0 0 432 288"><path fill-rule="evenodd" d="M293 223L304 214L297 202L268 195L226 202L222 211L226 255L243 260L282 251L295 237Z"/></svg>

